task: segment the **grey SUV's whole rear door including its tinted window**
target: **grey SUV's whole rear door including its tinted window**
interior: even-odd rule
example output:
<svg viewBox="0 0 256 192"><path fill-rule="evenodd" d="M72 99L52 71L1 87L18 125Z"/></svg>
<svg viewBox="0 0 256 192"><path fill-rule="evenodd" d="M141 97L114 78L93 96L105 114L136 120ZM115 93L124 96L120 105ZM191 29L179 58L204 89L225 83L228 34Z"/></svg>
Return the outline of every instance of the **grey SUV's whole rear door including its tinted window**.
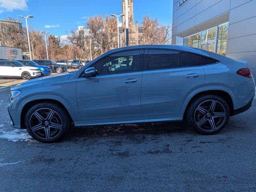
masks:
<svg viewBox="0 0 256 192"><path fill-rule="evenodd" d="M178 53L179 59L175 52L154 52L149 50L149 55L144 58L144 66L148 68L143 71L141 83L143 116L179 114L187 95L204 85L204 70L184 52ZM152 60L154 57L157 60ZM157 66L157 62L159 68L164 66L165 69L150 70L152 65Z"/></svg>

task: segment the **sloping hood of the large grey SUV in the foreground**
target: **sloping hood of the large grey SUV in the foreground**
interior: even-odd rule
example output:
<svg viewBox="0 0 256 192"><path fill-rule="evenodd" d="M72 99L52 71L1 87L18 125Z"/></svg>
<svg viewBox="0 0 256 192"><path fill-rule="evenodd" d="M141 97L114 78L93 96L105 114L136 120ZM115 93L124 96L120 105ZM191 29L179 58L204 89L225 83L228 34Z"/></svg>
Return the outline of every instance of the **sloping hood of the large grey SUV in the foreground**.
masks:
<svg viewBox="0 0 256 192"><path fill-rule="evenodd" d="M61 73L61 74L54 74L48 75L44 77L34 78L32 80L28 80L16 86L13 86L10 90L22 90L24 87L33 86L33 85L40 85L40 84L47 84L57 81L65 81L68 80L71 73Z"/></svg>

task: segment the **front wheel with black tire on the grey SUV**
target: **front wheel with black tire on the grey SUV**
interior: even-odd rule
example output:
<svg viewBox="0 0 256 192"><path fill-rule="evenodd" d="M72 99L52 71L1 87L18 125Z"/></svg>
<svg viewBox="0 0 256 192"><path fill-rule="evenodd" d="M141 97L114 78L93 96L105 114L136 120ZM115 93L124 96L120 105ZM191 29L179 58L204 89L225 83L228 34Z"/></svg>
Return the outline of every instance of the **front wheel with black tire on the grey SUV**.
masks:
<svg viewBox="0 0 256 192"><path fill-rule="evenodd" d="M32 106L25 116L25 126L30 136L44 143L57 142L62 139L69 132L70 125L71 120L66 110L51 102L42 102Z"/></svg>

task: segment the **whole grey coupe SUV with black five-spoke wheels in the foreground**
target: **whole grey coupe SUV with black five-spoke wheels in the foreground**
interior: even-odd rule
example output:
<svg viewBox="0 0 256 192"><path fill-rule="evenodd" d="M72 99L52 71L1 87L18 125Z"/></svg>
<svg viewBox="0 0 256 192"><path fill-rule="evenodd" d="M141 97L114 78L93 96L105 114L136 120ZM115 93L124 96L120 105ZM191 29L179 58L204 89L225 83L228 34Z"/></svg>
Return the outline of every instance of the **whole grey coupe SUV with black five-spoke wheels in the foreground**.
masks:
<svg viewBox="0 0 256 192"><path fill-rule="evenodd" d="M55 142L75 126L182 121L201 134L222 130L255 95L244 62L184 46L110 50L87 68L10 89L11 126Z"/></svg>

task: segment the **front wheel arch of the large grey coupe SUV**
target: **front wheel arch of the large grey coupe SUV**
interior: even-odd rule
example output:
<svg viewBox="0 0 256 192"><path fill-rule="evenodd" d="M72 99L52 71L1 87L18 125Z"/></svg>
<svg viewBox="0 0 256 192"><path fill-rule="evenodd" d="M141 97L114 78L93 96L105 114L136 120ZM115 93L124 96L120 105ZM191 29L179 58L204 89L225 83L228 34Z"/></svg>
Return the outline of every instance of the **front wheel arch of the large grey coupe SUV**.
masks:
<svg viewBox="0 0 256 192"><path fill-rule="evenodd" d="M38 104L38 103L42 103L42 102L51 102L53 104L58 104L59 106L61 106L62 108L65 109L65 111L67 112L67 114L69 115L70 119L73 122L75 122L77 120L75 113L73 112L71 107L68 106L68 104L63 104L63 102L60 102L59 99L56 100L54 98L41 98L41 99L29 100L28 102L22 104L23 107L22 107L22 110L20 113L20 128L24 128L24 117L25 117L28 109L31 108L31 106Z"/></svg>

